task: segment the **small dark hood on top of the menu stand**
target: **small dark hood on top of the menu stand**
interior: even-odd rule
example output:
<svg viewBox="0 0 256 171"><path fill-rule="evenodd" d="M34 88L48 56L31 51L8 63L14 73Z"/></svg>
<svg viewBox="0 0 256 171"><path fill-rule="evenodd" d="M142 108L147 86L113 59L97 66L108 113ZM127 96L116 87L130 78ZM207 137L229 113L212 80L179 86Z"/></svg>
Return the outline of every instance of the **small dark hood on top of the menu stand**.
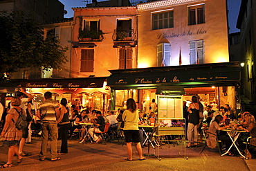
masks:
<svg viewBox="0 0 256 171"><path fill-rule="evenodd" d="M159 95L183 95L185 94L184 88L181 86L158 86L156 94Z"/></svg>

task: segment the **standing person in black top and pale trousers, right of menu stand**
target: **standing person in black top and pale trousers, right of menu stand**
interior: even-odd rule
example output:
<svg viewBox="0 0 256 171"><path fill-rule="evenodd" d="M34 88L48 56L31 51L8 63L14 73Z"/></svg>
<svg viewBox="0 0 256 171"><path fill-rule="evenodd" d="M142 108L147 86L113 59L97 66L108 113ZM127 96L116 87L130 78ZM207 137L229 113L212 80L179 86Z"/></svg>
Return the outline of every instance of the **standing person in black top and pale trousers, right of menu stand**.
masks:
<svg viewBox="0 0 256 171"><path fill-rule="evenodd" d="M199 127L199 104L197 102L196 96L192 96L192 102L188 107L188 112L190 114L188 116L188 145L186 146L186 148L192 147L192 143L194 143L194 147L197 147L197 128Z"/></svg>

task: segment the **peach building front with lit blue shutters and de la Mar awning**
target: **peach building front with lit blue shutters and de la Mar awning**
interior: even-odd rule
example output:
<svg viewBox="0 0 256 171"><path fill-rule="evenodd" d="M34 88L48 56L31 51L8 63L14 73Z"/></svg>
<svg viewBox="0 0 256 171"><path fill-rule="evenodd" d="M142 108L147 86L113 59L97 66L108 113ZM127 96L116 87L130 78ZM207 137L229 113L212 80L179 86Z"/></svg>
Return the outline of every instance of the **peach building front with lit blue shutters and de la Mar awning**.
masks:
<svg viewBox="0 0 256 171"><path fill-rule="evenodd" d="M143 109L143 101L157 99L158 86L181 86L184 100L199 95L205 105L235 110L240 75L238 63L229 64L226 1L151 1L137 10L138 67L111 70L112 107L134 98Z"/></svg>

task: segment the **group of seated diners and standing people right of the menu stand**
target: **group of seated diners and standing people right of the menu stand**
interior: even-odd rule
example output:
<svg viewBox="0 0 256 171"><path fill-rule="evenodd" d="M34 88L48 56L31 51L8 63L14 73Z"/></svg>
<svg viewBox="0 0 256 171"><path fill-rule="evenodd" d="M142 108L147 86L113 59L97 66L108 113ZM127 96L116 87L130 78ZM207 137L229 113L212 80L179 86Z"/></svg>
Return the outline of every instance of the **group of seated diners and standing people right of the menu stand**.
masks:
<svg viewBox="0 0 256 171"><path fill-rule="evenodd" d="M218 109L216 102L205 105L205 109L203 109L203 105L199 100L199 96L192 96L192 102L189 107L186 106L186 101L183 102L183 118L188 120L188 130L186 134L188 145L186 148L197 147L198 143L202 143L203 132L201 128L204 127L204 129L207 129L208 133L206 142L208 147L216 147L216 141L218 139L225 144L224 152L229 156L235 156L235 150L233 147L230 148L232 140L228 134L223 131L223 129L230 129L230 127L232 127L245 131L239 136L238 143L239 148L244 150L244 154L250 158L251 154L246 149L244 141L249 136L256 137L254 116L246 111L238 114L236 118L235 114L230 111L228 104ZM241 123L237 120L241 120ZM198 136L200 136L200 138Z"/></svg>

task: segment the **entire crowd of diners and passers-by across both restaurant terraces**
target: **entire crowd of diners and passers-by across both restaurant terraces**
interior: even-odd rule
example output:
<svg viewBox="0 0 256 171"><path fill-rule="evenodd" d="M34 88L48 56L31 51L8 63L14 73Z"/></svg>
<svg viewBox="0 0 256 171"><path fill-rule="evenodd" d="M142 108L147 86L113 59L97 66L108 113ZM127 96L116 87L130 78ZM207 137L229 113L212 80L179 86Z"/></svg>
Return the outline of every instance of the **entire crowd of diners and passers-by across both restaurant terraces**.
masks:
<svg viewBox="0 0 256 171"><path fill-rule="evenodd" d="M134 99L129 98L126 102L126 109L118 109L118 111L107 111L107 114L102 114L101 111L89 110L88 107L82 107L79 100L75 100L75 104L71 105L66 98L62 98L60 103L52 99L52 93L44 93L44 102L42 102L33 115L32 99L30 93L19 89L17 96L13 97L7 107L5 119L3 120L3 128L1 137L3 145L8 146L8 161L1 165L1 168L9 168L12 166L12 159L17 155L17 162L21 162L24 156L28 153L24 152L23 148L26 142L31 142L30 127L33 120L40 120L42 145L39 152L39 160L44 161L47 155L47 145L51 145L51 161L60 160L60 155L68 153L68 136L71 136L75 130L81 132L80 142L84 141L85 132L88 132L94 143L102 141L102 137L95 132L103 132L104 127L109 123L109 138L113 139L113 132L118 127L123 129L125 142L127 145L128 157L127 161L132 161L132 147L135 143L138 152L139 160L146 158L142 154L143 143L145 143L145 134L138 125L143 125L145 122L154 123L156 119L156 111L158 105L153 99L149 104L144 101L142 104L143 110L138 110L138 105ZM218 107L216 103L213 105L203 105L200 102L199 96L192 96L189 106L183 101L183 118L185 119L186 139L188 140L187 148L198 147L202 143L203 133L201 127L208 128L207 145L209 147L216 146L217 138L226 144L226 150L232 145L232 141L227 136L223 129L230 127L229 120L234 120L236 117L230 111L230 107L226 104L223 107ZM215 110L214 110L215 109ZM16 123L19 122L19 115L26 116L26 127L17 129ZM3 118L2 117L2 118ZM145 120L145 118L147 118ZM239 125L232 125L243 129L246 133L239 137L239 146L245 150L244 140L248 136L256 137L255 118L248 112L239 114L238 119L241 120ZM92 123L92 127L88 129L81 123ZM221 132L219 132L221 131ZM57 140L61 139L60 150L57 150ZM50 140L50 141L48 141ZM234 156L232 150L227 153L229 156Z"/></svg>

